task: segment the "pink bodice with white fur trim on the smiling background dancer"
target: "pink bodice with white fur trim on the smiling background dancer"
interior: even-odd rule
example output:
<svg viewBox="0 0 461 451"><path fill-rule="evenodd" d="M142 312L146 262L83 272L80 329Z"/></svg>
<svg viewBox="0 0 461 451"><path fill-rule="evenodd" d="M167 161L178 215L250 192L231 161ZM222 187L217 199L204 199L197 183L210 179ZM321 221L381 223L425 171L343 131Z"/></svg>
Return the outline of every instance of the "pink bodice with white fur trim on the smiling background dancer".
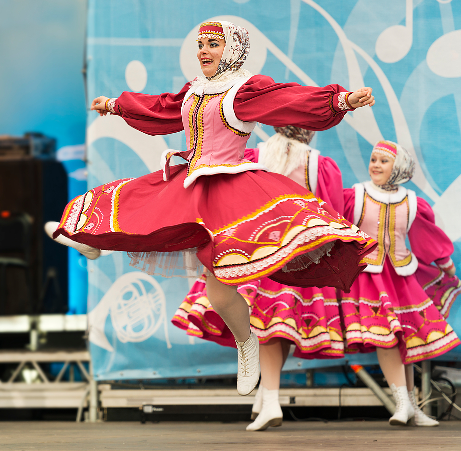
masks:
<svg viewBox="0 0 461 451"><path fill-rule="evenodd" d="M417 200L414 191L403 186L395 193L380 192L370 182L357 183L355 189L354 223L378 241L378 247L364 260L365 271L383 271L386 255L396 273L409 276L418 268L418 260L407 249L405 239L414 221Z"/></svg>

